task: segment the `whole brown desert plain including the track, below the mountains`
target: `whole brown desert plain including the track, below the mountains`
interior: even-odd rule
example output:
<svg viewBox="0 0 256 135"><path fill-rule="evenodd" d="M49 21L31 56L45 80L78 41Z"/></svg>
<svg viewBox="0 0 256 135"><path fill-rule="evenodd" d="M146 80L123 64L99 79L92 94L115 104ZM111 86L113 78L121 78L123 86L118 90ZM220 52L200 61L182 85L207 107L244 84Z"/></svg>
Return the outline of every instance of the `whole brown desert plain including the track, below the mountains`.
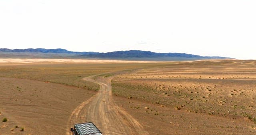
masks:
<svg viewBox="0 0 256 135"><path fill-rule="evenodd" d="M1 59L0 120L0 135L255 135L256 61Z"/></svg>

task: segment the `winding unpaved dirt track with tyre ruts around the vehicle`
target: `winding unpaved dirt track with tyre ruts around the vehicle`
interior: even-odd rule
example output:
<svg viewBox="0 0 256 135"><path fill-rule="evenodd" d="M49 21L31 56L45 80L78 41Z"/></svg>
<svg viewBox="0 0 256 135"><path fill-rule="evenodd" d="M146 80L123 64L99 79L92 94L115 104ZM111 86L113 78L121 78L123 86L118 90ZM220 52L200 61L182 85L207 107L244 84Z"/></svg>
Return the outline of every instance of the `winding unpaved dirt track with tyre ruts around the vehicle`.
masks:
<svg viewBox="0 0 256 135"><path fill-rule="evenodd" d="M99 76L96 80L93 77L95 75L84 80L98 83L99 92L72 112L67 125L67 135L71 135L69 129L74 123L88 121L92 121L103 135L148 135L136 119L113 102L111 91L113 76Z"/></svg>

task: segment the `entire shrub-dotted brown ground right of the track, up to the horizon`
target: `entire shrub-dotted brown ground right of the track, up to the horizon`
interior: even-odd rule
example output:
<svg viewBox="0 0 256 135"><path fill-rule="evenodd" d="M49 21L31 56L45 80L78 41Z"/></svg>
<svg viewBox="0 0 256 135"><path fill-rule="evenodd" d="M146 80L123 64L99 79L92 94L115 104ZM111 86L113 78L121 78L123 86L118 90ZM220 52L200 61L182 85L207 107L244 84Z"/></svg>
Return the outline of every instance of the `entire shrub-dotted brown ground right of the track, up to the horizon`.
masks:
<svg viewBox="0 0 256 135"><path fill-rule="evenodd" d="M144 68L118 75L112 92L148 133L256 134L256 61Z"/></svg>

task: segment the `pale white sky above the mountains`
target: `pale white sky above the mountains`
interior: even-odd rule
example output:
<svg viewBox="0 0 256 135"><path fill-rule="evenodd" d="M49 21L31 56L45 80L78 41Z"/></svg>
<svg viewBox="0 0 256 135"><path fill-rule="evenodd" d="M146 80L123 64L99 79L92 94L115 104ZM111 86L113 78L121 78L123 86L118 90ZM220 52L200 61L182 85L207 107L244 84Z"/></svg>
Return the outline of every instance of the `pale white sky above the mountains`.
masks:
<svg viewBox="0 0 256 135"><path fill-rule="evenodd" d="M256 60L256 0L0 0L0 48Z"/></svg>

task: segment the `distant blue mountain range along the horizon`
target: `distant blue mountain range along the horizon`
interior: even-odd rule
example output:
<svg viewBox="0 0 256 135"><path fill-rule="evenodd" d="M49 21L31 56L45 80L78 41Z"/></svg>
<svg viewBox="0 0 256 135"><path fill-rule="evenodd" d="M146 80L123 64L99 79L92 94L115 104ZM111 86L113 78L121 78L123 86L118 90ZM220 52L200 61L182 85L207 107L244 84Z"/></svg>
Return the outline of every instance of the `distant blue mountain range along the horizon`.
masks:
<svg viewBox="0 0 256 135"><path fill-rule="evenodd" d="M140 51L140 50L130 50L130 51L116 51L116 52L107 52L107 53L99 53L99 52L71 52L65 49L7 49L0 48L0 54L4 53L5 58L8 57L8 54L19 54L19 55L28 55L34 54L33 57L36 57L35 54L41 54L37 57L42 57L42 54L58 56L58 58L90 58L90 59L115 59L115 60L162 60L162 61L170 61L170 60L202 60L202 59L227 59L226 57L209 57L209 56L198 56L192 54L185 53L155 53L150 51ZM67 55L68 54L68 55ZM7 56L6 56L7 55ZM53 56L53 57L54 57ZM0 55L1 57L1 55Z"/></svg>

